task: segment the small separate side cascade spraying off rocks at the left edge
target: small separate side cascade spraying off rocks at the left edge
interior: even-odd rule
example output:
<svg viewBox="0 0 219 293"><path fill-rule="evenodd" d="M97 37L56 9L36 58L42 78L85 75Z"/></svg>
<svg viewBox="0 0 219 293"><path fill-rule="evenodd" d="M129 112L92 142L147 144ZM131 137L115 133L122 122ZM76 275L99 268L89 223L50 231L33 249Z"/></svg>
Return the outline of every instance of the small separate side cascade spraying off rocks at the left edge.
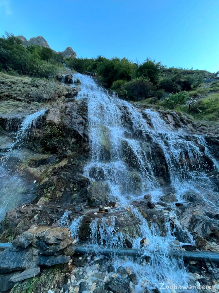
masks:
<svg viewBox="0 0 219 293"><path fill-rule="evenodd" d="M34 183L28 182L16 172L16 156L19 148L27 144L31 129L36 127L36 122L42 119L47 109L28 115L22 122L19 130L14 135L14 141L0 159L0 220L5 213L22 203L29 202L34 197ZM13 163L11 164L11 160ZM13 170L11 169L13 166ZM25 183L24 183L25 180ZM27 196L27 191L29 195Z"/></svg>

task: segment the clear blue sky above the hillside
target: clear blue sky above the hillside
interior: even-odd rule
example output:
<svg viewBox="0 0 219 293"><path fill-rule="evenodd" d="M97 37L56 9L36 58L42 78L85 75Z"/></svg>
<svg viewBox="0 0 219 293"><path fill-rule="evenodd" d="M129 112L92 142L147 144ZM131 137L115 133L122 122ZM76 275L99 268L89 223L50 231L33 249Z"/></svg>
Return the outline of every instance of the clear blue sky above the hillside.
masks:
<svg viewBox="0 0 219 293"><path fill-rule="evenodd" d="M0 0L0 34L42 35L79 57L219 70L218 0Z"/></svg>

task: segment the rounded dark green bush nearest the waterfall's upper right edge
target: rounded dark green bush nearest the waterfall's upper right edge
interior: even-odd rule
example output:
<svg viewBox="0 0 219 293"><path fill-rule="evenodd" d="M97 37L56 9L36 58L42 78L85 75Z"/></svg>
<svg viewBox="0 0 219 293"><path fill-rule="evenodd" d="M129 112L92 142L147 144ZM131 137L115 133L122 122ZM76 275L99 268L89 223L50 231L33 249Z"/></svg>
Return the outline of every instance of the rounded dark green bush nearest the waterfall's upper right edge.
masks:
<svg viewBox="0 0 219 293"><path fill-rule="evenodd" d="M152 82L144 77L135 78L125 85L126 97L139 101L150 98L154 95Z"/></svg>

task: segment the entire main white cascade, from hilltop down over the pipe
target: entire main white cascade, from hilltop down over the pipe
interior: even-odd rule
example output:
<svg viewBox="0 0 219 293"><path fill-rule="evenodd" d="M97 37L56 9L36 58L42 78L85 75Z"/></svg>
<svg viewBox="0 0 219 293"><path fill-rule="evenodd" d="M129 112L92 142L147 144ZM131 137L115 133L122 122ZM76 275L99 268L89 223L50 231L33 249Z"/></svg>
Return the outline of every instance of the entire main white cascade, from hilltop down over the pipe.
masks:
<svg viewBox="0 0 219 293"><path fill-rule="evenodd" d="M164 157L169 184L175 188L178 200L182 199L181 194L186 190L194 189L201 193L204 184L207 183L209 187L209 178L204 171L206 158L211 160L212 168L218 165L204 137L187 134L185 130L173 130L155 111L147 109L144 113L138 112L127 101L120 100L115 94L109 95L90 76L75 74L73 84L78 80L81 91L77 99L84 99L88 104L91 156L84 175L90 178L91 184L93 180L107 182L110 199L116 199L120 204L120 209L91 222L91 244L113 248L129 243L133 248L140 248L140 240L145 237L142 255L150 255L150 260L114 257L115 270L121 265L134 268L138 276L135 292L143 292L145 285L152 289L156 283L188 285L190 276L185 271L183 261L169 255L175 240L169 219L175 217L178 227L184 229L176 215L166 211L166 232L162 234L156 223L149 228L131 201L136 197L141 198L148 191L152 193L152 199L158 200L161 194L162 186L157 180L153 162L156 151L151 145L159 148ZM148 123L145 117L149 119ZM205 148L204 152L202 147ZM129 203L131 205L127 209ZM119 221L128 222L128 226L124 228L123 224L123 228L120 228ZM193 243L190 233L187 230L184 232L185 242Z"/></svg>

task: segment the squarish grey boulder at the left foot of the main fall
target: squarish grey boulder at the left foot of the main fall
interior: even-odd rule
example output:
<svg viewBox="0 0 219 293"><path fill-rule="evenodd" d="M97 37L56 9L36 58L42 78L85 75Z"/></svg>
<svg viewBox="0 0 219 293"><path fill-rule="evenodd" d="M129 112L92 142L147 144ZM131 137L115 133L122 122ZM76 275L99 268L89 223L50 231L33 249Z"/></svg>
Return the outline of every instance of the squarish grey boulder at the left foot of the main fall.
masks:
<svg viewBox="0 0 219 293"><path fill-rule="evenodd" d="M87 189L87 199L90 207L99 207L107 205L109 184L100 181L93 181Z"/></svg>

